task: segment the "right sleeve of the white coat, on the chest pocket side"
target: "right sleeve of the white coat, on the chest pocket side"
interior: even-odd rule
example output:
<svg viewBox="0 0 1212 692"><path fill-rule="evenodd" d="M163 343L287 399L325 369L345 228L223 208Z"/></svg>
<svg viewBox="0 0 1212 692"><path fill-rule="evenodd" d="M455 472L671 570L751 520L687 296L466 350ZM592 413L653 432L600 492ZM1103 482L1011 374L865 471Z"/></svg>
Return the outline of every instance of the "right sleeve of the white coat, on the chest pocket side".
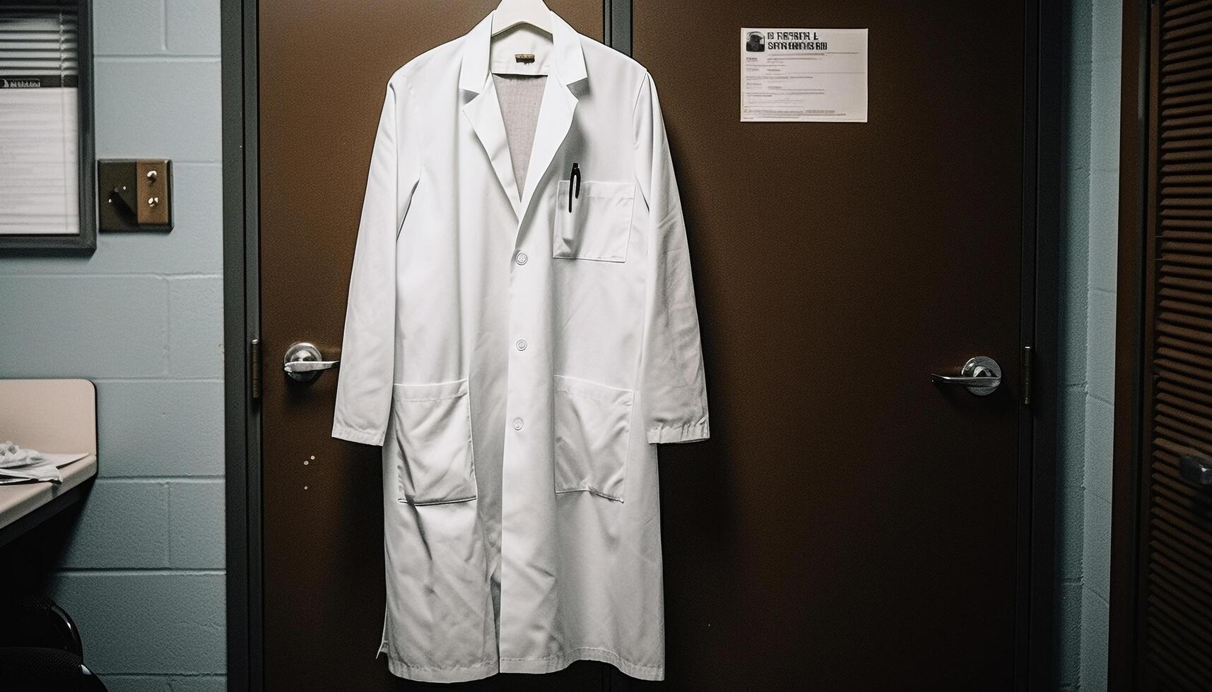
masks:
<svg viewBox="0 0 1212 692"><path fill-rule="evenodd" d="M635 175L647 204L646 294L639 399L648 442L709 436L703 349L686 224L652 78L635 103Z"/></svg>

